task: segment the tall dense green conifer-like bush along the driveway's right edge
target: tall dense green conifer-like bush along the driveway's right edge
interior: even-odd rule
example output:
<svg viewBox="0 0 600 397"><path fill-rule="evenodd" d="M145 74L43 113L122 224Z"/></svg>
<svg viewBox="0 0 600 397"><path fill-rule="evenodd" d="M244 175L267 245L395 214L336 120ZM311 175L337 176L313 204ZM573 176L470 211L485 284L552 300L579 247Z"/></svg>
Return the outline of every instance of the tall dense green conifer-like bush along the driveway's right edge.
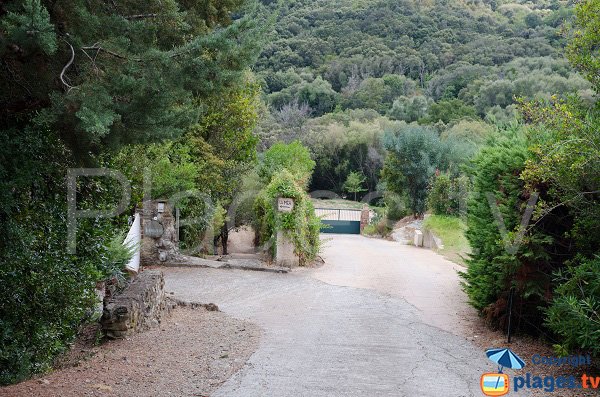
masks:
<svg viewBox="0 0 600 397"><path fill-rule="evenodd" d="M507 249L515 240L521 214L529 194L519 175L530 153L520 129L506 131L473 160L474 186L468 205L467 239L473 253L462 274L469 302L488 319L502 325L506 320L508 295L515 288L515 313L523 323L541 322L539 307L545 303L550 285L548 253L551 239L536 231L527 233L515 251ZM490 196L490 193L493 196ZM502 216L503 235L490 205Z"/></svg>

